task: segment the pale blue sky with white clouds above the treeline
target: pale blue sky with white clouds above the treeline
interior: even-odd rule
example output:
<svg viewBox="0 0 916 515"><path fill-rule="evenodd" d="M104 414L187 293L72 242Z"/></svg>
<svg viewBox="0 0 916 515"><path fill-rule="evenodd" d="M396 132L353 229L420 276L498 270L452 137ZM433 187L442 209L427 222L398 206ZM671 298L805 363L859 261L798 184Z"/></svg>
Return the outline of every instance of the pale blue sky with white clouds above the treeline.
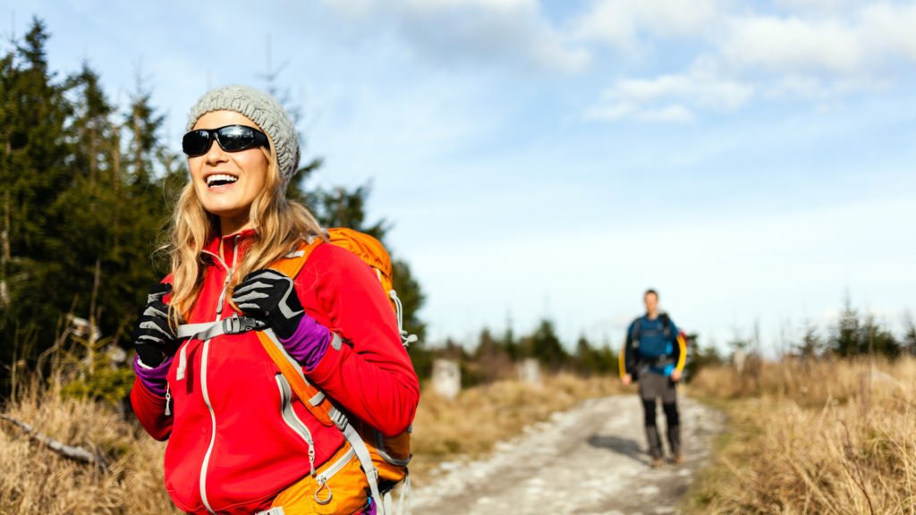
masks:
<svg viewBox="0 0 916 515"><path fill-rule="evenodd" d="M32 16L176 152L208 88L274 75L311 184L371 184L430 345L548 317L616 346L647 288L769 352L847 298L916 309L916 2L0 0L2 39Z"/></svg>

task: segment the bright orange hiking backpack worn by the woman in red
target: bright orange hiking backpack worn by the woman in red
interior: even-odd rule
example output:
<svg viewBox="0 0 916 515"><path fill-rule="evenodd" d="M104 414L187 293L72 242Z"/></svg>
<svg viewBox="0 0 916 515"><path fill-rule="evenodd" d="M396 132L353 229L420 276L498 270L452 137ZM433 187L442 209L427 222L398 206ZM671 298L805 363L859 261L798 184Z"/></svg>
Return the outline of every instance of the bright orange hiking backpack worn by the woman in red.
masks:
<svg viewBox="0 0 916 515"><path fill-rule="evenodd" d="M401 343L407 347L416 341L416 336L407 334L402 327L402 307L393 287L391 258L385 247L376 238L352 229L329 229L326 236L332 245L346 248L376 271L379 286L385 291L392 309L397 313ZM308 243L303 242L299 249L278 259L270 268L289 278L295 278L311 252L322 243L319 238L314 238ZM346 413L334 405L333 400L305 378L301 366L286 353L273 331L258 331L257 336L302 404L322 424L336 425L349 443L349 450L338 453L340 457L333 456L317 471L312 467L312 473L308 477L283 491L274 500L274 506L282 507L282 512L287 515L299 512L354 513L358 511L353 510L354 506L361 500L365 502L362 490L366 485L363 481L354 481L353 477L353 470L361 467L362 475L365 476L373 501L376 503L376 510L379 515L384 515L381 496L408 475L411 456L410 429L397 436L387 437L365 422L349 420ZM336 335L334 337L339 338ZM334 468L339 470L333 470L333 474L330 475L326 471L322 472L322 469Z"/></svg>

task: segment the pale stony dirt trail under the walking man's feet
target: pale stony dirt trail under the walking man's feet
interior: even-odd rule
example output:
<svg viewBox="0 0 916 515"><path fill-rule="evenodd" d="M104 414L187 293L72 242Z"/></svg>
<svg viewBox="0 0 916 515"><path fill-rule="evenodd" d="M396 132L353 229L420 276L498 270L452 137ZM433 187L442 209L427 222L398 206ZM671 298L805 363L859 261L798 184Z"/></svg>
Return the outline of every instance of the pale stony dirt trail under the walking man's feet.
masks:
<svg viewBox="0 0 916 515"><path fill-rule="evenodd" d="M498 444L483 460L443 464L430 483L414 488L411 512L674 513L724 420L720 412L694 400L681 398L679 405L681 466L649 468L636 395L589 400ZM659 417L664 420L661 410Z"/></svg>

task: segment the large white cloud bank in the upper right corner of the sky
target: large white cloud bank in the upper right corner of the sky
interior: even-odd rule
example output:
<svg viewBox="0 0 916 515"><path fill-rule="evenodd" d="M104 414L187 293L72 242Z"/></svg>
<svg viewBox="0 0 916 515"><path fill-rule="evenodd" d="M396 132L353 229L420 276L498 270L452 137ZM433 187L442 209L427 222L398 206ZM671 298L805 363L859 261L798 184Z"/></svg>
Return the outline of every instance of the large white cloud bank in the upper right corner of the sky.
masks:
<svg viewBox="0 0 916 515"><path fill-rule="evenodd" d="M772 6L771 14L761 14L728 0L703 0L695 10L692 3L660 0L594 2L573 24L579 38L641 54L662 38L679 37L683 49L695 50L683 52L692 61L689 71L618 78L585 116L685 121L704 110L735 110L752 98L813 101L832 110L899 85L916 61L912 0L774 0ZM646 62L652 60L636 66Z"/></svg>

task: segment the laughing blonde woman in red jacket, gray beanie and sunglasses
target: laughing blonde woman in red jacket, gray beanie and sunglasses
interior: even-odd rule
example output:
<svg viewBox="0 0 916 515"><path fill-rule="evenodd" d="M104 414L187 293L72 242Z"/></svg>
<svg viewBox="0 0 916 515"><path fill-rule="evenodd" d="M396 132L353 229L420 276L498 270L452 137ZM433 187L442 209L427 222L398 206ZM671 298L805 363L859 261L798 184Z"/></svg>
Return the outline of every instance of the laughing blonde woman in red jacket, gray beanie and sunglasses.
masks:
<svg viewBox="0 0 916 515"><path fill-rule="evenodd" d="M365 474L346 473L359 469L355 459L336 477L362 483L327 485L333 504L300 495L344 463L348 444L337 427L290 402L255 331L180 340L176 327L254 318L351 417L402 433L419 383L376 275L327 243L293 278L267 269L323 237L315 218L285 197L299 141L275 99L245 86L213 90L191 109L188 130L191 181L172 219L171 273L150 292L133 333L131 401L147 433L169 440L169 495L190 513L374 512ZM295 488L300 494L289 493ZM356 493L341 499L342 491Z"/></svg>

